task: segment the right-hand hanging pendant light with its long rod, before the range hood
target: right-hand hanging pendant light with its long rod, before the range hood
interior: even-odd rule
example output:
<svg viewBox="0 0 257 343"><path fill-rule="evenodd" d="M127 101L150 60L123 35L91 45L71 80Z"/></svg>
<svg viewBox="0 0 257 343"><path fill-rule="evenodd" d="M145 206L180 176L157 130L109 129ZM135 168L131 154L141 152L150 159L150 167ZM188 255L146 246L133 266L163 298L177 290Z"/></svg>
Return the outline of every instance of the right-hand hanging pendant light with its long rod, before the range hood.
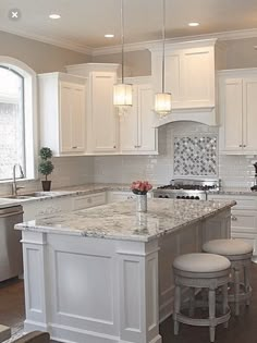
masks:
<svg viewBox="0 0 257 343"><path fill-rule="evenodd" d="M166 93L166 0L162 0L162 69L161 93L155 95L155 111L164 117L171 112L171 93Z"/></svg>

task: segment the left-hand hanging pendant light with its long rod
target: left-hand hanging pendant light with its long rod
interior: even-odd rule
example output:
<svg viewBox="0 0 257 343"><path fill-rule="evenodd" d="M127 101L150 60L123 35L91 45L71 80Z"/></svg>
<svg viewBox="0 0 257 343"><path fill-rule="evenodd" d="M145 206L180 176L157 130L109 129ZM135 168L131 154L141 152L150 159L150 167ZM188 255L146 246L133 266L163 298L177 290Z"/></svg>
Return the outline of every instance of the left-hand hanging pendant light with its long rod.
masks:
<svg viewBox="0 0 257 343"><path fill-rule="evenodd" d="M113 105L123 114L132 106L132 85L124 83L124 15L123 0L121 0L121 84L114 85Z"/></svg>

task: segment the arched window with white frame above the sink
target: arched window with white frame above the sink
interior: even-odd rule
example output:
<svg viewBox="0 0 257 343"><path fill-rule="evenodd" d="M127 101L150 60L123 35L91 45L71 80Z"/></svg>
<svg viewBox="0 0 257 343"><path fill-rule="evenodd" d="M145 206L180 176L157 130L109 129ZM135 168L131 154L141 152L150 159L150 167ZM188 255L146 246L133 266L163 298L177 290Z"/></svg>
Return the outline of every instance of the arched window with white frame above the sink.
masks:
<svg viewBox="0 0 257 343"><path fill-rule="evenodd" d="M12 179L15 163L26 179L35 179L35 151L36 74L21 61L0 57L0 181Z"/></svg>

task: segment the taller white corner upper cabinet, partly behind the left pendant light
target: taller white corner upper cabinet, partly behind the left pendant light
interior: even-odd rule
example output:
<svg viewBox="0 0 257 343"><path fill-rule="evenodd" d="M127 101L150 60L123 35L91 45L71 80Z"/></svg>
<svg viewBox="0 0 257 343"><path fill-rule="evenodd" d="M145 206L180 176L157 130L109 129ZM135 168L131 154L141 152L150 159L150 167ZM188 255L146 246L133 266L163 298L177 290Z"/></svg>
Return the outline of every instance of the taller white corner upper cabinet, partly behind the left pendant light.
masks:
<svg viewBox="0 0 257 343"><path fill-rule="evenodd" d="M119 115L113 106L118 64L85 63L68 72L88 78L87 154L119 152Z"/></svg>

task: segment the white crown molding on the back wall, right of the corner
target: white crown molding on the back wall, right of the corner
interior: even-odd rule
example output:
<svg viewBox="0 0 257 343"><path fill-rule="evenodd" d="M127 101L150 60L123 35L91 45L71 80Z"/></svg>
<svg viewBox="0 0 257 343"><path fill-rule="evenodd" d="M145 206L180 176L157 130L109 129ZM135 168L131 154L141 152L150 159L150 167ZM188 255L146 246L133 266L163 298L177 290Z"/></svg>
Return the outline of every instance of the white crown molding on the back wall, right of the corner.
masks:
<svg viewBox="0 0 257 343"><path fill-rule="evenodd" d="M201 39L218 39L222 40L234 40L234 39L244 39L244 38L256 38L257 37L257 28L250 29L242 29L242 30L229 30L222 33L213 33L206 35L196 35L196 36L184 36L178 38L169 38L166 39L166 44L180 44L185 41L194 41ZM161 44L161 40L149 40L142 42L132 42L125 44L124 50L128 51L138 51L138 50L151 50L157 48ZM101 56L101 54L111 54L121 52L121 45L111 46L111 47L102 47L93 49L93 56Z"/></svg>

